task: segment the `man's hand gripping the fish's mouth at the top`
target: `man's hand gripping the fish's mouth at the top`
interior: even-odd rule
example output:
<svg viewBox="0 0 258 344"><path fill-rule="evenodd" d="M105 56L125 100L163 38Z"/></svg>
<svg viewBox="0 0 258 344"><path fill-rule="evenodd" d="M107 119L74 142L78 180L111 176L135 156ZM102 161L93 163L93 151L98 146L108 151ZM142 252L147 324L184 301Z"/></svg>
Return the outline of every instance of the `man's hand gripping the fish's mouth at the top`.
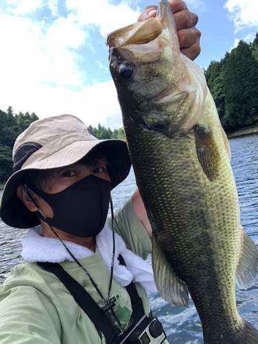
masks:
<svg viewBox="0 0 258 344"><path fill-rule="evenodd" d="M200 31L196 29L198 16L190 12L182 0L168 0L174 13L180 52L194 60L200 54ZM156 6L147 6L138 21L156 17Z"/></svg>

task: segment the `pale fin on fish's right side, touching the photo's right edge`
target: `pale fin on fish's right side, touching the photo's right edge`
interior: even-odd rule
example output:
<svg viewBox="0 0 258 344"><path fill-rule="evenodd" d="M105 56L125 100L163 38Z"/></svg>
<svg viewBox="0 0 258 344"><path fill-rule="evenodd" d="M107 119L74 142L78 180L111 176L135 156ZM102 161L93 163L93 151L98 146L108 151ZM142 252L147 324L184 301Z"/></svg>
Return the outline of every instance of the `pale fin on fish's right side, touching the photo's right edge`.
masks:
<svg viewBox="0 0 258 344"><path fill-rule="evenodd" d="M257 246L240 226L242 232L242 249L235 273L235 283L242 289L252 286L258 270L258 250Z"/></svg>

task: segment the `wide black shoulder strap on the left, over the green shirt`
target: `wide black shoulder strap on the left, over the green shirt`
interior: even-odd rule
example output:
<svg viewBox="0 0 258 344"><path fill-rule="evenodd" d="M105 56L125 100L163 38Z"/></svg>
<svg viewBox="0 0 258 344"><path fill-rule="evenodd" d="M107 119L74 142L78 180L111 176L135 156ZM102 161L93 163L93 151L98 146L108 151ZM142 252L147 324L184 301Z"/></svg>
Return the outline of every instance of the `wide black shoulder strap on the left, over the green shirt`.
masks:
<svg viewBox="0 0 258 344"><path fill-rule="evenodd" d="M75 281L58 263L39 263L38 266L49 272L52 272L69 290L75 301L80 305L82 310L89 316L91 321L99 328L104 336L111 340L114 335L114 330L110 326L107 316L104 314L102 308L99 308L97 303L93 300L91 295Z"/></svg>

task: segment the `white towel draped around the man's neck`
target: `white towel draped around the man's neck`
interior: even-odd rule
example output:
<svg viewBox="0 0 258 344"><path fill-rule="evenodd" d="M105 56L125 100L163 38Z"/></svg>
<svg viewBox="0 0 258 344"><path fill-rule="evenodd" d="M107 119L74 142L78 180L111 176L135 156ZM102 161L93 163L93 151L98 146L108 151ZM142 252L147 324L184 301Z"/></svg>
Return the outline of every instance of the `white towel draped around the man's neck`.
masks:
<svg viewBox="0 0 258 344"><path fill-rule="evenodd" d="M21 257L30 263L37 261L49 261L50 263L60 263L68 260L73 261L65 247L58 239L43 237L41 226L28 230L27 237L21 242L23 250ZM85 248L69 241L64 241L65 245L73 253L76 259L82 259L93 255L89 248ZM113 233L104 226L104 229L96 237L97 249L104 260L108 270L111 268L113 255ZM121 254L126 262L126 266L119 265L117 257ZM128 286L131 281L138 282L149 292L156 293L152 266L146 263L141 257L135 255L126 248L126 244L119 235L115 233L115 261L114 275L122 287ZM94 277L93 277L94 279Z"/></svg>

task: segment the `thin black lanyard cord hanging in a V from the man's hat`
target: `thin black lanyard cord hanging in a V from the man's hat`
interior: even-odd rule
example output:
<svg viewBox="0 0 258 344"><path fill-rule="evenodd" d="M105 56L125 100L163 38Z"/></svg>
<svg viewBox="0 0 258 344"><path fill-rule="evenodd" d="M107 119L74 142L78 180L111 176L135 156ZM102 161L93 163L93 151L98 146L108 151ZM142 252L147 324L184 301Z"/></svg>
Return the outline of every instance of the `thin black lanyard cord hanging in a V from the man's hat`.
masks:
<svg viewBox="0 0 258 344"><path fill-rule="evenodd" d="M32 195L29 193L29 191L27 190L27 188L25 187L24 184L21 184L21 186L23 187L23 190L25 191L25 193L27 193L27 195L30 197L30 200L32 200L34 206L36 206L36 208L38 209L38 212L45 218L46 223L49 225L50 229L52 230L52 232L54 233L54 235L56 235L57 239L59 241L62 242L62 245L65 247L65 249L67 250L67 252L69 253L69 255L73 258L73 260L75 261L76 264L78 264L78 266L80 266L80 268L82 269L83 272L86 273L86 275L89 277L91 283L93 284L95 290L97 291L97 293L99 294L99 297L101 297L104 305L108 305L110 303L110 292L111 292L111 287L112 287L112 280L113 280L113 272L114 272L114 260L115 260L115 230L114 230L114 213L113 213L113 202L112 199L110 197L110 207L111 207L111 216L112 216L112 231L113 231L113 255L112 255L112 260L111 260L111 269L110 269L110 281L109 281L109 287L108 287L108 300L107 303L102 295L102 293L99 291L99 288L97 288L95 282L93 281L93 279L91 278L91 276L89 275L89 272L87 272L84 267L82 266L82 264L80 264L80 262L78 261L78 259L76 259L73 255L73 253L69 250L69 248L67 248L67 246L65 245L64 241L62 241L62 239L60 239L60 237L58 237L58 234L55 232L54 228L47 222L47 217L45 217L43 211L41 211L40 207L38 206L38 204L36 203L36 201L34 200L34 198L32 197ZM116 319L118 320L118 319ZM119 323L119 327L121 327L121 324ZM122 329L123 330L123 329Z"/></svg>

